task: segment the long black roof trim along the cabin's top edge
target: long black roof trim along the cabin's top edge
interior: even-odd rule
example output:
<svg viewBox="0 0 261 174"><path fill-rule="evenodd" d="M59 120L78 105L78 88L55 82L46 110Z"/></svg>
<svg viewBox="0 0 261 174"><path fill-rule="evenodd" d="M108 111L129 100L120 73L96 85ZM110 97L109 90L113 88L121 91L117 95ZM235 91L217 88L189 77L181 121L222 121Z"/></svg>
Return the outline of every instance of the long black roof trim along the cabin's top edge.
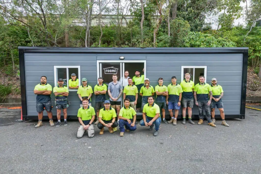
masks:
<svg viewBox="0 0 261 174"><path fill-rule="evenodd" d="M116 47L26 47L19 46L22 52L52 52L52 53L244 53L248 47L213 47L213 48L191 48L191 47L162 47L162 48L116 48Z"/></svg>

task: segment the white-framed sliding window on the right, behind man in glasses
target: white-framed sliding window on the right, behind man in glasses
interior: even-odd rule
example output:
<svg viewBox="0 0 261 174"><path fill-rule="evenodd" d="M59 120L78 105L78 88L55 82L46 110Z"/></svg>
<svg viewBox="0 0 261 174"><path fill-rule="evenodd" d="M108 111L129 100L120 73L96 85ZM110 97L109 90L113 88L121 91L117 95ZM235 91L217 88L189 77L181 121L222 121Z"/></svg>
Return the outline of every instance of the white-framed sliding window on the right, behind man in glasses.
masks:
<svg viewBox="0 0 261 174"><path fill-rule="evenodd" d="M205 76L205 82L207 79L207 66L181 66L181 81L185 79L185 74L190 74L190 80L194 82L194 84L199 83L198 77L203 75Z"/></svg>

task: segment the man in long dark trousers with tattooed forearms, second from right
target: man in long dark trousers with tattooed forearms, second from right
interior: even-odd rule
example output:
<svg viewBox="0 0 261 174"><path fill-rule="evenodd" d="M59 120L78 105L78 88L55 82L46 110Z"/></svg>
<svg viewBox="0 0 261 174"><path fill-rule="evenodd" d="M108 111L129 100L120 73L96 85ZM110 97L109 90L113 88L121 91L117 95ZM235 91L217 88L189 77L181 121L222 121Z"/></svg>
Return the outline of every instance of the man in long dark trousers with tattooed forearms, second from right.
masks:
<svg viewBox="0 0 261 174"><path fill-rule="evenodd" d="M210 117L210 103L212 99L212 89L209 84L205 83L205 77L199 76L199 83L195 85L194 88L194 98L195 104L198 106L199 111L199 122L198 124L203 124L203 107L206 111L207 122L210 126L216 127L214 123L211 121Z"/></svg>

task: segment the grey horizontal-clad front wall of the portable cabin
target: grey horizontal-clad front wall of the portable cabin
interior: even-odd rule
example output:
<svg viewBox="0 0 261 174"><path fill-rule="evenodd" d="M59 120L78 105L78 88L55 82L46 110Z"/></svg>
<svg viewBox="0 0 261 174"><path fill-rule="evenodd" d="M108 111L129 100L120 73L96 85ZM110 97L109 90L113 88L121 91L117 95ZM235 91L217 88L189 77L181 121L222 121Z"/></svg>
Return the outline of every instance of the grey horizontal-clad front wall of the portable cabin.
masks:
<svg viewBox="0 0 261 174"><path fill-rule="evenodd" d="M25 53L27 115L37 115L35 108L36 95L34 86L40 83L40 76L47 76L47 81L54 87L54 66L80 65L81 77L86 77L92 88L97 83L97 60L146 60L147 78L156 86L159 77L163 77L164 85L171 83L170 77L175 75L178 83L181 80L181 66L207 66L207 83L215 77L224 90L224 109L226 114L240 114L242 61L241 53L169 53L169 54L119 54L119 53ZM134 67L135 68L135 67ZM130 75L133 76L133 75ZM52 100L54 95L52 94ZM70 92L68 99L71 106L68 115L76 115L79 99L76 92ZM94 104L94 94L92 97ZM54 105L54 101L53 101ZM197 107L193 112L197 115ZM216 112L219 114L219 112ZM53 114L56 115L55 108ZM180 112L181 114L181 112Z"/></svg>

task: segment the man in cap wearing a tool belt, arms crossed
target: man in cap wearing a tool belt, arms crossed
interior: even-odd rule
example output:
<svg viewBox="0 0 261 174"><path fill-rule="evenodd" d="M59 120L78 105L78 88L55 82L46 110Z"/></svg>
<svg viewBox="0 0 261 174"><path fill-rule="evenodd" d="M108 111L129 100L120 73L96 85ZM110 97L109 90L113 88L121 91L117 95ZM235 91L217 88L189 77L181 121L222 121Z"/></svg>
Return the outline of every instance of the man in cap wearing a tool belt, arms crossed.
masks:
<svg viewBox="0 0 261 174"><path fill-rule="evenodd" d="M67 96L69 95L69 89L63 86L63 79L58 79L58 86L55 86L54 89L55 95L55 106L57 110L57 120L56 127L61 125L61 111L63 109L63 124L65 126L68 125L67 123L67 108L69 107Z"/></svg>

